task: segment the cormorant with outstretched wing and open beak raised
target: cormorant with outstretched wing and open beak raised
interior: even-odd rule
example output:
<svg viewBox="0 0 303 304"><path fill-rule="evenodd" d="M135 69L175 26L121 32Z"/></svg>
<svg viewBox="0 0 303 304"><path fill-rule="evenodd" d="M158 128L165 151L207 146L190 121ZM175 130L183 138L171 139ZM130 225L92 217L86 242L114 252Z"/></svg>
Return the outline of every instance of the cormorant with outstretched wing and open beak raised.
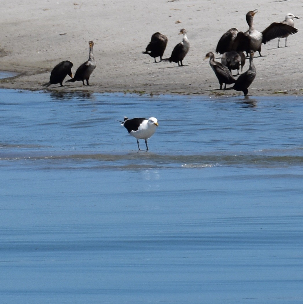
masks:
<svg viewBox="0 0 303 304"><path fill-rule="evenodd" d="M259 32L254 28L253 20L257 10L249 11L246 14L246 22L249 29L246 32L239 32L233 43L233 49L243 51L247 54L250 51L258 51L261 56L261 44L289 34L298 32L298 29L282 22L273 22L263 32Z"/></svg>

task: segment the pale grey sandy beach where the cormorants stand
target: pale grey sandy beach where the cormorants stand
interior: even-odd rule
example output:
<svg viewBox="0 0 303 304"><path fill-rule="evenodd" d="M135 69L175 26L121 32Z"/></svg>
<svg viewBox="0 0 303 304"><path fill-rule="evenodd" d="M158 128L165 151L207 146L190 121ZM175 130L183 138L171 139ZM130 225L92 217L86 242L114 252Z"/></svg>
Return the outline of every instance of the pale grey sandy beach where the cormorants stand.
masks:
<svg viewBox="0 0 303 304"><path fill-rule="evenodd" d="M217 42L228 29L248 29L245 15L258 9L254 26L263 31L272 22L284 20L291 12L298 33L262 45L263 57L255 54L257 76L249 95L302 94L303 4L298 1L255 1L249 6L235 0L88 0L52 1L3 0L0 40L0 70L18 76L0 81L0 88L44 90L50 71L62 60L74 64L72 72L88 59L88 41L93 40L97 67L90 86L82 82L51 85L47 90L85 92L140 92L146 94L242 95L234 90L218 90L219 83L203 60L215 52ZM155 32L168 37L164 58L182 40L187 30L190 51L183 67L167 61L154 63L142 54ZM216 54L216 60L221 61ZM246 71L249 63L245 64ZM66 77L66 80L69 77Z"/></svg>

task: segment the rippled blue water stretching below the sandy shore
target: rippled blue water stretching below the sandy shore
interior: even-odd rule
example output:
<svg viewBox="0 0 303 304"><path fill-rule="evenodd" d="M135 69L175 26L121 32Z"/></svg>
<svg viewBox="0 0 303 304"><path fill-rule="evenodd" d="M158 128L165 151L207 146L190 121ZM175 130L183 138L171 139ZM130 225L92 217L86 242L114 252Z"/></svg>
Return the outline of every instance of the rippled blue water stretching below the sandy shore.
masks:
<svg viewBox="0 0 303 304"><path fill-rule="evenodd" d="M124 116L157 117L150 151ZM302 117L302 96L0 90L1 303L301 304Z"/></svg>

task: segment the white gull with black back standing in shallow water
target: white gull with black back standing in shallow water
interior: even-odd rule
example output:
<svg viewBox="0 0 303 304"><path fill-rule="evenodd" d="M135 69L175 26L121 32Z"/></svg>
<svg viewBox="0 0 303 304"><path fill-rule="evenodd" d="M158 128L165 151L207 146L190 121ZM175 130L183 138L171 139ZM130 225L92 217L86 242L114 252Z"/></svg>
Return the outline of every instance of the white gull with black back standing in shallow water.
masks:
<svg viewBox="0 0 303 304"><path fill-rule="evenodd" d="M145 139L146 151L148 151L147 139L153 135L156 131L156 127L158 126L158 120L155 117L146 118L133 118L128 119L124 117L124 121L120 121L122 126L125 126L128 134L136 137L138 149L139 147L139 139Z"/></svg>

